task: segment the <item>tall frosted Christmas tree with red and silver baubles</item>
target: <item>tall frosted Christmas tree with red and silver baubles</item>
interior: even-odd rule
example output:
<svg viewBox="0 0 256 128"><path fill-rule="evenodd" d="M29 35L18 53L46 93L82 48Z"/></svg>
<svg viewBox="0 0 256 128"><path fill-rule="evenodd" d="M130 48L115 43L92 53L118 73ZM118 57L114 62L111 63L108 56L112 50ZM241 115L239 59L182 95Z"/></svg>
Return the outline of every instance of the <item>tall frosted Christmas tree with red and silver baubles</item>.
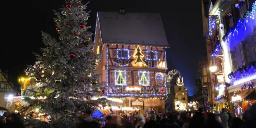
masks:
<svg viewBox="0 0 256 128"><path fill-rule="evenodd" d="M92 33L87 31L86 5L81 0L66 0L61 13L55 12L53 29L59 37L42 33L43 55L36 54L38 62L26 71L38 88L30 90L34 98L25 100L54 117L54 128L75 128L82 111L94 111L102 103L90 100L102 94L95 73L101 55L92 54L94 43Z"/></svg>

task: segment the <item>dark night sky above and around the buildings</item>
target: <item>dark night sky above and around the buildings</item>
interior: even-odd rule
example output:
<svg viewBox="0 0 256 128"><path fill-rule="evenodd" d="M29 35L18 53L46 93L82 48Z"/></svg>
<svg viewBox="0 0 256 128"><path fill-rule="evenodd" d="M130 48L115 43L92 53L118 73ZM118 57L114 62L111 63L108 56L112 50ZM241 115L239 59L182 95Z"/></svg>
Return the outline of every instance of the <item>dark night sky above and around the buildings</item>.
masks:
<svg viewBox="0 0 256 128"><path fill-rule="evenodd" d="M32 52L44 47L40 31L56 36L54 12L65 0L26 0L2 3L0 68L9 71L9 79L17 84L27 64L36 61ZM86 0L83 0L85 3ZM4 9L6 7L6 9ZM168 69L178 69L184 77L189 95L196 91L199 78L198 61L206 60L201 18L201 0L91 0L88 24L94 28L97 11L160 13L170 45ZM154 25L154 24L152 24Z"/></svg>

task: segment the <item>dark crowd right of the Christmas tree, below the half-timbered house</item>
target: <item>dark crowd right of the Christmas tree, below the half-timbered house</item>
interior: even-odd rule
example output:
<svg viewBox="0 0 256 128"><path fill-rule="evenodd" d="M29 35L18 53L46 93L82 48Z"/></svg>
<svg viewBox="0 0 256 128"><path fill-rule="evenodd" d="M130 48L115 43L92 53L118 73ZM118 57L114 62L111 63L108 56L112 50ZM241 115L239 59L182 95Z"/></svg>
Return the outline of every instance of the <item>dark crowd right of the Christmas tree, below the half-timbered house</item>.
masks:
<svg viewBox="0 0 256 128"><path fill-rule="evenodd" d="M154 111L142 116L139 112L130 115L107 116L103 128L255 128L256 104L247 110L243 118L235 117L223 108L220 114L214 114L199 108L192 112L169 112L168 114Z"/></svg>

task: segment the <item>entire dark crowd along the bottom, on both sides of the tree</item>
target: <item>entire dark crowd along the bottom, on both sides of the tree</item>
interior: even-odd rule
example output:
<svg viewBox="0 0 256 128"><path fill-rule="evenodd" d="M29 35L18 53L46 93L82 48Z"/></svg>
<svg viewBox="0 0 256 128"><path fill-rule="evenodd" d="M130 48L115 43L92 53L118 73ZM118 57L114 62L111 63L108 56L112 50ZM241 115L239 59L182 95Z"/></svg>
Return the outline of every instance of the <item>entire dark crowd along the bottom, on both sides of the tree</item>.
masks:
<svg viewBox="0 0 256 128"><path fill-rule="evenodd" d="M77 128L255 128L256 104L243 115L234 117L222 109L220 114L213 114L199 108L192 112L168 112L158 115L150 111L146 115L139 111L134 114L107 116L105 123L97 123L91 117L92 111L83 111L78 117ZM5 113L0 119L0 128L25 128L18 118L20 114Z"/></svg>

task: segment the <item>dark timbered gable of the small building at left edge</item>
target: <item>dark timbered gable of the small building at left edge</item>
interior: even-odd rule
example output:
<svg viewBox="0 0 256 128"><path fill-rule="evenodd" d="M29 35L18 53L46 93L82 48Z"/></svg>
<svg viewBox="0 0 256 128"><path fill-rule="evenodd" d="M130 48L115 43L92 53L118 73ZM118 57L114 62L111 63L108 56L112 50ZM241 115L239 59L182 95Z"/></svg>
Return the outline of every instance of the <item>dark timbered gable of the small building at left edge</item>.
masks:
<svg viewBox="0 0 256 128"><path fill-rule="evenodd" d="M7 79L0 69L0 92L14 92L13 84Z"/></svg>

